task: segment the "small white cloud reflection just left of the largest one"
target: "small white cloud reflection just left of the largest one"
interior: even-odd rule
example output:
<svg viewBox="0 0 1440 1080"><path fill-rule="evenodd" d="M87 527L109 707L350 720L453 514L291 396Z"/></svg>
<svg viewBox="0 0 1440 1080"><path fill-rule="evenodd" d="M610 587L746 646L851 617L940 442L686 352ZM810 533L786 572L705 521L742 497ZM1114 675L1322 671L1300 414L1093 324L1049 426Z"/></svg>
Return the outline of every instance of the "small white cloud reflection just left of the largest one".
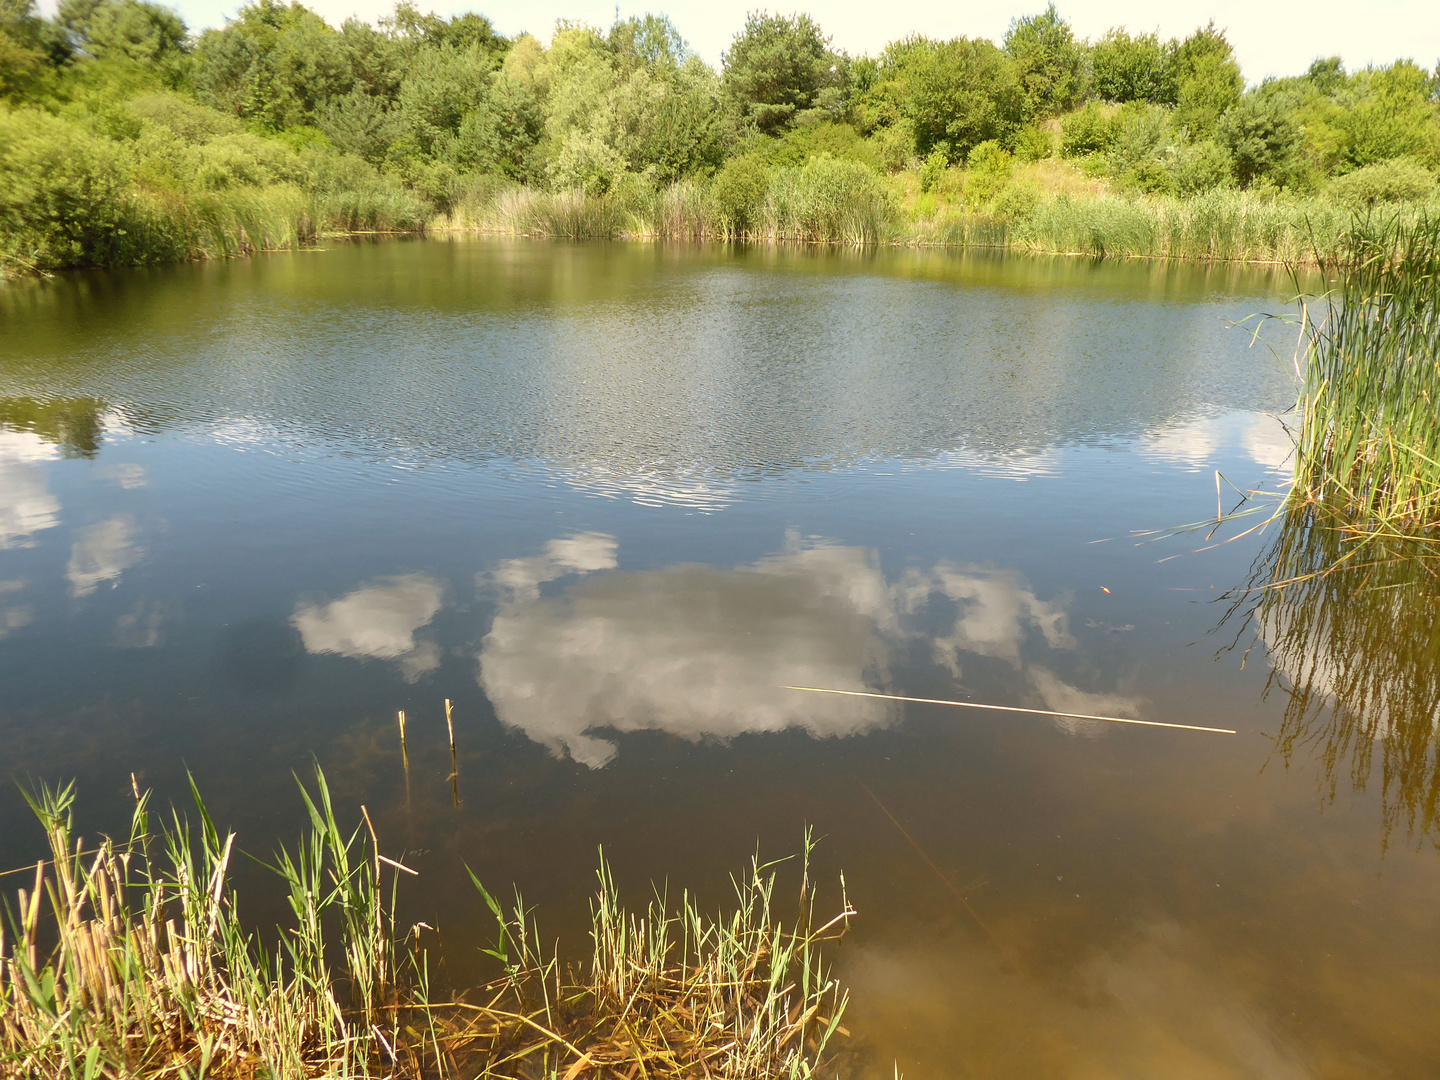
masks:
<svg viewBox="0 0 1440 1080"><path fill-rule="evenodd" d="M300 603L291 625L307 652L393 660L410 681L441 664L439 645L416 632L439 612L445 588L429 575L377 577L338 600Z"/></svg>

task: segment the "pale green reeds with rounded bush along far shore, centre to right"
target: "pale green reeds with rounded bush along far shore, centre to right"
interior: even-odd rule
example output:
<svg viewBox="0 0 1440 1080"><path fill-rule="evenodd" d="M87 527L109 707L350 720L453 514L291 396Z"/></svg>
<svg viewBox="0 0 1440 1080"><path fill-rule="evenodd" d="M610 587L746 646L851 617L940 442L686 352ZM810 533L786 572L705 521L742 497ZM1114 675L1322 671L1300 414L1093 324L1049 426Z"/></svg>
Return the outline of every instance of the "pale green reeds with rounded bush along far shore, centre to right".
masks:
<svg viewBox="0 0 1440 1080"><path fill-rule="evenodd" d="M716 200L713 184L681 180L660 189L549 193L527 187L461 199L433 228L567 239L806 242L841 246L936 245L1007 248L1090 258L1335 264L1348 256L1354 213L1328 199L1276 199L1215 190L1189 199L1113 193L1022 199L996 206L904 210L864 166L812 158L775 171L744 228ZM1440 206L1410 204L1403 222Z"/></svg>

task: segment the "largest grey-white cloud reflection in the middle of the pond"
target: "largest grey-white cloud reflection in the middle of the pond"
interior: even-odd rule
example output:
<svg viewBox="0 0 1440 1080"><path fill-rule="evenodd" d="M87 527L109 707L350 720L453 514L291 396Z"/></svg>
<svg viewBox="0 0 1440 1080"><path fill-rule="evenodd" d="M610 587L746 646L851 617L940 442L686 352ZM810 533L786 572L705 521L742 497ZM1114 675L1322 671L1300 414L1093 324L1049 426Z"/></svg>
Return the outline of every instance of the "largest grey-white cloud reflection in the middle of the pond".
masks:
<svg viewBox="0 0 1440 1080"><path fill-rule="evenodd" d="M611 572L612 537L583 533L481 575L497 598L480 651L480 684L500 720L590 768L616 744L596 732L660 730L729 739L798 727L816 737L894 723L890 701L812 696L812 685L864 691L886 683L896 648L930 636L936 662L959 677L965 655L1005 661L1048 707L1104 704L1022 658L1076 647L1056 602L1014 572L940 563L891 582L864 547L791 537L747 566L678 564ZM540 582L566 580L541 595ZM935 603L948 605L939 635ZM1027 645L1028 642L1028 645ZM1038 645L1037 645L1038 642Z"/></svg>

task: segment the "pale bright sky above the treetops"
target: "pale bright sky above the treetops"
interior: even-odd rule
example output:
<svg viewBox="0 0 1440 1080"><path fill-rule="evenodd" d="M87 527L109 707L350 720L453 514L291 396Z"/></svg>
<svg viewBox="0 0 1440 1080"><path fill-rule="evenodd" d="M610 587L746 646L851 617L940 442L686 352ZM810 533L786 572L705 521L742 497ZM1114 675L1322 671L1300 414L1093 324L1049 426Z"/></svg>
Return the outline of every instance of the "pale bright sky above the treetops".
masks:
<svg viewBox="0 0 1440 1080"><path fill-rule="evenodd" d="M192 29L222 26L238 0L171 0ZM528 30L549 40L557 19L609 26L615 0L418 0L420 10L458 14L478 10L511 36ZM763 0L619 0L622 16L668 14L690 46L710 63ZM310 7L331 23L356 14L374 20L393 0L312 0ZM1267 75L1300 75L1316 56L1339 55L1349 71L1367 63L1414 59L1426 68L1440 60L1440 0L1057 0L1060 14L1080 37L1099 37L1112 26L1130 32L1159 30L1184 37L1211 19L1223 27L1250 82ZM878 53L912 33L929 37L989 37L1005 33L1009 20L1044 9L1044 0L998 0L960 4L949 0L809 0L778 3L770 10L806 12L834 45L851 55Z"/></svg>

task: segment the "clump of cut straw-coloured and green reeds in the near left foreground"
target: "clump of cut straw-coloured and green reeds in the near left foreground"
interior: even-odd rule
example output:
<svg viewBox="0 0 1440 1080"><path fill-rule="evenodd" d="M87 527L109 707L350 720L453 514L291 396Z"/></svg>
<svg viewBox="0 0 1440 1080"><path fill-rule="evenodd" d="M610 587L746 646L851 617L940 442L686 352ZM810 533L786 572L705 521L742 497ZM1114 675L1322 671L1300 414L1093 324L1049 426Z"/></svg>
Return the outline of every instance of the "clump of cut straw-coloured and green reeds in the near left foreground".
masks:
<svg viewBox="0 0 1440 1080"><path fill-rule="evenodd" d="M194 828L153 819L135 795L128 837L89 850L73 788L32 799L50 857L0 933L6 1076L804 1079L844 1034L847 998L819 948L854 912L816 919L808 834L789 926L778 864L753 860L733 912L707 914L688 894L674 912L664 897L628 910L602 858L580 969L541 952L518 893L507 910L471 876L500 975L432 996L419 929L395 922L395 884L413 871L380 854L364 808L363 825L340 828L323 773L301 788L307 837L272 861L292 916L272 945L240 920L236 837L199 793Z"/></svg>

